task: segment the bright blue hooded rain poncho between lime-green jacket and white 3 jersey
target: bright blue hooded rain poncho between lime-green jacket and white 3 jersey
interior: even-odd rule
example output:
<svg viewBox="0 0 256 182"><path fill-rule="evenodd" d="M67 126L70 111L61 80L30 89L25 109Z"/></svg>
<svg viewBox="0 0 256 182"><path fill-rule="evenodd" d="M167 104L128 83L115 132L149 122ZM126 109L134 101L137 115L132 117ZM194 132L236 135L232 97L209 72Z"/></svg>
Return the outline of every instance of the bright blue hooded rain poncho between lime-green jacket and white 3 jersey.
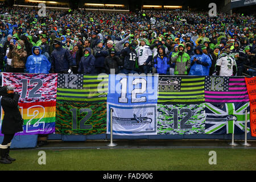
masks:
<svg viewBox="0 0 256 182"><path fill-rule="evenodd" d="M195 54L191 57L190 61L191 61L192 67L188 75L209 76L209 69L210 69L210 66L212 65L212 61L210 60L209 56L203 53L200 46L197 46L196 49L199 49L200 54L199 55ZM193 62L194 57L196 57L196 59L201 61L202 63L208 63L208 65L204 66L202 64L194 63Z"/></svg>

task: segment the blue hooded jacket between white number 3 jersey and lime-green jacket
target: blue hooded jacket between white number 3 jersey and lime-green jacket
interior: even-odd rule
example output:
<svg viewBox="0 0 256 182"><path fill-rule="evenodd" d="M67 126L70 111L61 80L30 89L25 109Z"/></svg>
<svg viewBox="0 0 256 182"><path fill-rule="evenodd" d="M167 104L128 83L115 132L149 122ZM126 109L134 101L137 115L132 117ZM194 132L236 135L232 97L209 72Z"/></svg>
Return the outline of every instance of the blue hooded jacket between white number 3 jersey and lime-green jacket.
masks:
<svg viewBox="0 0 256 182"><path fill-rule="evenodd" d="M164 47L162 46L162 49L164 50ZM158 54L154 57L154 67L156 68L156 72L160 74L166 74L168 69L170 68L170 65L168 64L169 58L164 53L163 59L159 55L159 49Z"/></svg>

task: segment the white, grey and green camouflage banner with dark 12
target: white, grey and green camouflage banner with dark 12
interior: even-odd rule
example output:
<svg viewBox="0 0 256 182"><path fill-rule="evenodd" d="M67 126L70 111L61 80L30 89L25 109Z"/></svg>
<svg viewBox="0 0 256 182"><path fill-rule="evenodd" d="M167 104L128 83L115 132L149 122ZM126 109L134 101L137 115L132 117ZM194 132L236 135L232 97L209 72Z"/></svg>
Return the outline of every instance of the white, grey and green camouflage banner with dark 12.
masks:
<svg viewBox="0 0 256 182"><path fill-rule="evenodd" d="M204 104L158 104L158 134L203 134Z"/></svg>

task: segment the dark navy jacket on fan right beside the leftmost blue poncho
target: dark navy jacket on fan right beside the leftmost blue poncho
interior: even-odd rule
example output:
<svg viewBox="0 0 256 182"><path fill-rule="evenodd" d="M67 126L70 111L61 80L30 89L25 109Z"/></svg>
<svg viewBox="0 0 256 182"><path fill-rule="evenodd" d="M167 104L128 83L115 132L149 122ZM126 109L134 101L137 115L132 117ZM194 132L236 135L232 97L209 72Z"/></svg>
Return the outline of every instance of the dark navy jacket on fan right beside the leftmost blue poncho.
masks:
<svg viewBox="0 0 256 182"><path fill-rule="evenodd" d="M54 49L51 54L51 64L55 73L67 71L72 67L72 56L68 49L62 46Z"/></svg>

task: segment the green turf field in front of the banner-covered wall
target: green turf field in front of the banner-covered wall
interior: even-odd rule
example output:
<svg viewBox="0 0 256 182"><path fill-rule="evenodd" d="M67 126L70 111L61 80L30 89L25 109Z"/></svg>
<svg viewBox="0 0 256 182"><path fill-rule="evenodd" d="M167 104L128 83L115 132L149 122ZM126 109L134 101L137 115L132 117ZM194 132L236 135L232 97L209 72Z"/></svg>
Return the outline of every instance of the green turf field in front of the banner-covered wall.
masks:
<svg viewBox="0 0 256 182"><path fill-rule="evenodd" d="M0 170L256 170L254 149L46 150L45 165L38 164L39 151L11 150L16 161ZM209 151L216 151L216 165L209 164Z"/></svg>

